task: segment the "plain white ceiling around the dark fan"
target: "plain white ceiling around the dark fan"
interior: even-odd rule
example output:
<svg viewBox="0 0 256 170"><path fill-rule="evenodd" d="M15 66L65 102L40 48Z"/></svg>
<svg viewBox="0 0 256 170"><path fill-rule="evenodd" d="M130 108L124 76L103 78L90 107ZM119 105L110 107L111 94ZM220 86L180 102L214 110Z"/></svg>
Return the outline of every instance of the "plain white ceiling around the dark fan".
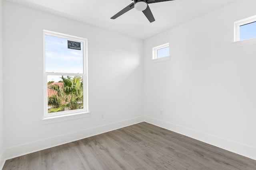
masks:
<svg viewBox="0 0 256 170"><path fill-rule="evenodd" d="M156 21L150 23L135 8L115 20L132 0L6 0L72 18L90 25L146 39L236 0L172 0L149 4Z"/></svg>

